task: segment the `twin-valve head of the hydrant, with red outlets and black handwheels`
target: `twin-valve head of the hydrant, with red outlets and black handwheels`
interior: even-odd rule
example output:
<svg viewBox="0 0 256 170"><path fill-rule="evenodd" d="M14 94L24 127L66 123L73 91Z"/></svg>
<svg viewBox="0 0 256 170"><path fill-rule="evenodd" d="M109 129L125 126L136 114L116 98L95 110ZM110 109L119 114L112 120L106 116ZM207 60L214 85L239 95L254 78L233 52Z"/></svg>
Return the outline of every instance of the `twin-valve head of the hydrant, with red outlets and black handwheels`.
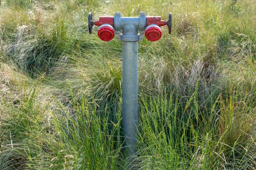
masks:
<svg viewBox="0 0 256 170"><path fill-rule="evenodd" d="M149 41L157 41L161 38L161 26L168 25L169 34L171 33L171 13L169 14L169 20L163 21L161 17L146 17L144 12L139 14L139 17L121 17L121 14L117 12L114 17L99 17L99 19L95 22L92 21L92 15L88 16L88 26L89 32L92 33L92 25L102 26L105 25L105 29L109 27L109 31L106 31L109 34L108 38L103 38L98 34L98 37L103 41L110 41L114 38L113 32L111 30L114 29L115 34L118 34L118 40L120 41L140 41L143 39L143 33L145 33L145 37ZM128 26L130 25L130 26ZM133 28L128 28L133 27ZM150 29L149 29L150 28ZM102 32L103 28L99 27L98 32ZM122 31L122 34L121 34ZM139 33L139 34L138 34ZM123 36L125 34L132 34L136 36Z"/></svg>

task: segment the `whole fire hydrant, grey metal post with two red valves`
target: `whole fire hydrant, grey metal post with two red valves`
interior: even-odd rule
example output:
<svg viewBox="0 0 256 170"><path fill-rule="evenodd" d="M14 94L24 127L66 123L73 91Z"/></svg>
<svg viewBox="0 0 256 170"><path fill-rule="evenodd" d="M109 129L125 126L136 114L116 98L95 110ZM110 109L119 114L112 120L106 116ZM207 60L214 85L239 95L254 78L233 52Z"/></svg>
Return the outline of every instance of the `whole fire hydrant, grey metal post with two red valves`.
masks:
<svg viewBox="0 0 256 170"><path fill-rule="evenodd" d="M92 14L88 15L89 33L93 26L99 26L98 37L103 41L110 41L117 34L122 45L122 129L125 137L124 145L129 156L137 152L138 126L138 41L143 34L149 41L161 38L161 26L168 26L169 34L172 31L172 14L168 21L161 17L146 17L140 12L138 17L121 17L119 12L114 17L99 17L94 21Z"/></svg>

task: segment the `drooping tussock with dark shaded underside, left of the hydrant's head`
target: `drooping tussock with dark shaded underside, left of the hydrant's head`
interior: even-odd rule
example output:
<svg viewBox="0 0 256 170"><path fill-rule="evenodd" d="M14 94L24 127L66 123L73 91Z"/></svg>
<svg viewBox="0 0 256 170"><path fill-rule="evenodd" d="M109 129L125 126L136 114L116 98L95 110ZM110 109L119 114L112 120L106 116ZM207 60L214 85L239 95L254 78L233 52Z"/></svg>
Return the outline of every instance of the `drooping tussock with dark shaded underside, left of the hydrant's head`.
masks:
<svg viewBox="0 0 256 170"><path fill-rule="evenodd" d="M19 26L15 41L7 46L6 54L25 74L37 77L48 73L60 56L69 52L69 43L64 21L57 18L51 34L41 32L31 24Z"/></svg>

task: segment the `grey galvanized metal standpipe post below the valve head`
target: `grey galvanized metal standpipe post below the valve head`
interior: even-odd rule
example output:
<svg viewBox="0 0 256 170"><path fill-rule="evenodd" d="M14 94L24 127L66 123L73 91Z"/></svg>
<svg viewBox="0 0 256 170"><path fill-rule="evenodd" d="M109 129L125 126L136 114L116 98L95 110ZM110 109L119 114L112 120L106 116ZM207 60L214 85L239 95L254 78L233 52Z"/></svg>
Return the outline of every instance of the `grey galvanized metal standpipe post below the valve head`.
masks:
<svg viewBox="0 0 256 170"><path fill-rule="evenodd" d="M131 156L137 152L138 42L123 42L122 50L122 128L126 154Z"/></svg>

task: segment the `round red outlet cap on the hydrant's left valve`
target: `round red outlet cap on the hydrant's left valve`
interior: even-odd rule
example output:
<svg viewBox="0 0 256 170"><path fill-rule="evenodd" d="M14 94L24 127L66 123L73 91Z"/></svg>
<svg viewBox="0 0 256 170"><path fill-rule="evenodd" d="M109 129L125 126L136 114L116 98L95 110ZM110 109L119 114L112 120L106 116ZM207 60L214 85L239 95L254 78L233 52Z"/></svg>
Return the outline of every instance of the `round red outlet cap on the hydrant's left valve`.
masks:
<svg viewBox="0 0 256 170"><path fill-rule="evenodd" d="M109 24L103 24L98 28L98 37L102 41L110 41L115 36L114 28Z"/></svg>

